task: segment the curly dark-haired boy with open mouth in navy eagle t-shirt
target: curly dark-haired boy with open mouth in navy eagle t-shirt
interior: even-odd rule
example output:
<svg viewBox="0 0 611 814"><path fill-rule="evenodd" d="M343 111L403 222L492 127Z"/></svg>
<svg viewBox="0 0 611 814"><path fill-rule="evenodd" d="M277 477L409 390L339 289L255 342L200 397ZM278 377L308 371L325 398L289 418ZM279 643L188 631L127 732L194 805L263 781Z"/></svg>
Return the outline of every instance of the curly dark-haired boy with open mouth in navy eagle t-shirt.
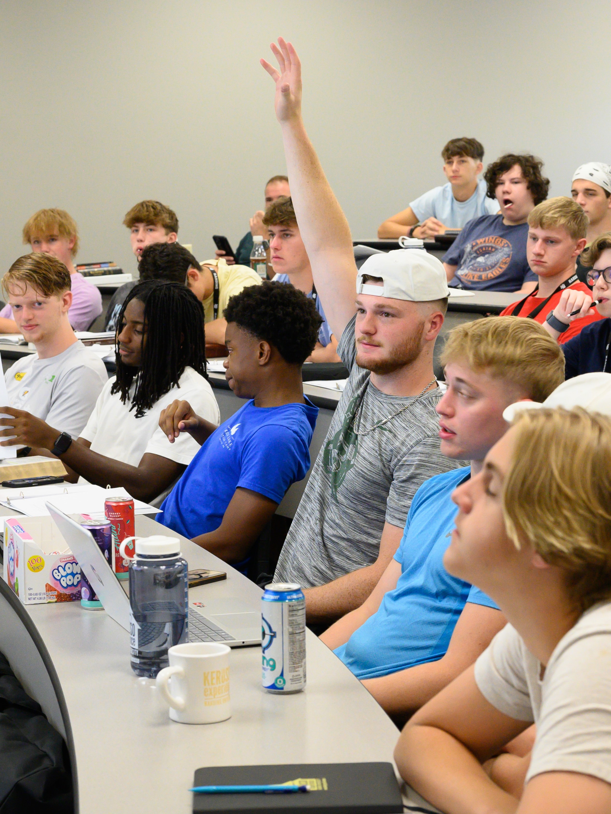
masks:
<svg viewBox="0 0 611 814"><path fill-rule="evenodd" d="M547 198L549 179L534 155L503 155L486 169L488 197L499 215L474 218L443 256L451 287L472 291L516 291L525 296L537 278L526 260L527 218Z"/></svg>

